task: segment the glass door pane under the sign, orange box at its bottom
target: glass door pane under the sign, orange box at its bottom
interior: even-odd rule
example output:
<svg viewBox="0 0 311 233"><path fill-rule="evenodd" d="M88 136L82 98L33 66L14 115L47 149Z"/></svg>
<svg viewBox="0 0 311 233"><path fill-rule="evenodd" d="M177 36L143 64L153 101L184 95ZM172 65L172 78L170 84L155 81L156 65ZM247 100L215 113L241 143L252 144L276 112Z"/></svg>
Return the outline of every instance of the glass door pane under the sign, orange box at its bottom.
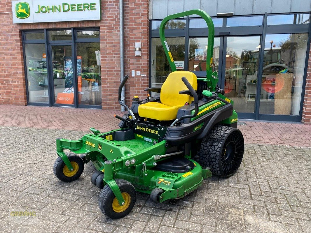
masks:
<svg viewBox="0 0 311 233"><path fill-rule="evenodd" d="M61 105L74 105L72 46L51 45L50 51L54 84L53 102Z"/></svg>

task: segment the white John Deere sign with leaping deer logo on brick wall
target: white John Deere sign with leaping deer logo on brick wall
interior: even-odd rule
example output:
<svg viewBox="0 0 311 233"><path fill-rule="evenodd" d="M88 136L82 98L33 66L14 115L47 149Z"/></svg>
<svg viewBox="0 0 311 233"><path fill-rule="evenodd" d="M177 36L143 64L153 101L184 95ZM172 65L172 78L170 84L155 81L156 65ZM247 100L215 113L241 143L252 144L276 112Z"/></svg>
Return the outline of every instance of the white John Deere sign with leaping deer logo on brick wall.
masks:
<svg viewBox="0 0 311 233"><path fill-rule="evenodd" d="M100 20L100 0L12 1L12 11L13 23Z"/></svg>

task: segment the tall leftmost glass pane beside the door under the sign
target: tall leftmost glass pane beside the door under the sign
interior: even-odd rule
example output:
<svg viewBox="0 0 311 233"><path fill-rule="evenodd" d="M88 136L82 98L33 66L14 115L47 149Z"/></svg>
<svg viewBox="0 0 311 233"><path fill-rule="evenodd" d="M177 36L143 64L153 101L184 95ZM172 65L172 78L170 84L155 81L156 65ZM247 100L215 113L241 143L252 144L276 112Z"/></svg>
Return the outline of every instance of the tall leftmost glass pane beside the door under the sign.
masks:
<svg viewBox="0 0 311 233"><path fill-rule="evenodd" d="M45 45L25 44L25 57L29 102L49 103Z"/></svg>

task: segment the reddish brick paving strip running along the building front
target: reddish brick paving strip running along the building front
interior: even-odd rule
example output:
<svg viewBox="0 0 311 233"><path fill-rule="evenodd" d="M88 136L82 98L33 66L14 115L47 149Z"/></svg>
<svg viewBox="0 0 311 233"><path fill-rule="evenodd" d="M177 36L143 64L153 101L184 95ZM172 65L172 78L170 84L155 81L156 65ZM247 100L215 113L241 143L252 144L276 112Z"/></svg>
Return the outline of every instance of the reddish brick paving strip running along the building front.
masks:
<svg viewBox="0 0 311 233"><path fill-rule="evenodd" d="M118 127L120 111L86 108L0 105L0 126L102 132ZM267 123L239 120L245 143L311 147L311 124Z"/></svg>

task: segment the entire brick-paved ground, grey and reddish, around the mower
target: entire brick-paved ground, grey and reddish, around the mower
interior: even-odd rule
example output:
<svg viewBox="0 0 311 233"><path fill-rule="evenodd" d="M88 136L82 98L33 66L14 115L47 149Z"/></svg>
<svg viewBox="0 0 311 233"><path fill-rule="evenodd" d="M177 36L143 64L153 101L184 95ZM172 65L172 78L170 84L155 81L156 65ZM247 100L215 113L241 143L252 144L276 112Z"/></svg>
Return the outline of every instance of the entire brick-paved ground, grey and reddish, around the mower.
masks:
<svg viewBox="0 0 311 233"><path fill-rule="evenodd" d="M138 194L127 217L105 217L91 163L74 182L54 176L55 138L113 129L114 113L0 105L0 232L311 232L310 126L302 124L239 125L246 147L234 176L162 204ZM10 215L26 210L36 216Z"/></svg>

